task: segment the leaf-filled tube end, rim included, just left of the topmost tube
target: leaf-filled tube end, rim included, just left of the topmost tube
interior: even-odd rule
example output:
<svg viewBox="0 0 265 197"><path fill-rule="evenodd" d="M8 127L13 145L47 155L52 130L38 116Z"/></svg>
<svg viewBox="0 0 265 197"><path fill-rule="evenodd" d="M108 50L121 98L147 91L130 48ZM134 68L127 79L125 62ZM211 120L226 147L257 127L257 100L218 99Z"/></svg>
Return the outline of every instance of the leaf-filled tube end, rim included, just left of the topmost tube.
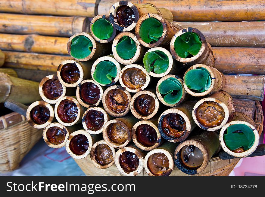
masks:
<svg viewBox="0 0 265 197"><path fill-rule="evenodd" d="M97 32L96 29L101 26L106 27L106 29L100 29L101 31L105 31ZM93 38L100 43L111 42L116 36L116 29L112 26L109 17L106 15L97 15L91 20L90 32Z"/></svg>

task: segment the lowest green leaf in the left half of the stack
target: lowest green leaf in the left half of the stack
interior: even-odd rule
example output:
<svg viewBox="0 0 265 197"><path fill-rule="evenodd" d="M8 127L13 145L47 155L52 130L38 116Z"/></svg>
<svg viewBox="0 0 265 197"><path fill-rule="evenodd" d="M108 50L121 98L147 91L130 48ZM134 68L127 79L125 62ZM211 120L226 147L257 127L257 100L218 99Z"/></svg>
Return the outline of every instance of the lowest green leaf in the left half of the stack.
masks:
<svg viewBox="0 0 265 197"><path fill-rule="evenodd" d="M107 85L117 76L117 68L111 61L99 62L96 66L93 77L96 82Z"/></svg>

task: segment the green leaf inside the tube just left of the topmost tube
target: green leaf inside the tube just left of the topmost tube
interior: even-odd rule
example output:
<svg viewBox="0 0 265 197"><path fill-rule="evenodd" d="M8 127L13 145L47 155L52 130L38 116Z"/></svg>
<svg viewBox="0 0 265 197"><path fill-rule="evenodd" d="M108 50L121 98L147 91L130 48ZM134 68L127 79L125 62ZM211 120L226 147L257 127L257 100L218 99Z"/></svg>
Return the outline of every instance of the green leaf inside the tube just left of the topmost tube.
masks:
<svg viewBox="0 0 265 197"><path fill-rule="evenodd" d="M107 40L113 34L113 26L108 20L103 18L96 20L95 23L92 24L91 30L94 35L101 40Z"/></svg>

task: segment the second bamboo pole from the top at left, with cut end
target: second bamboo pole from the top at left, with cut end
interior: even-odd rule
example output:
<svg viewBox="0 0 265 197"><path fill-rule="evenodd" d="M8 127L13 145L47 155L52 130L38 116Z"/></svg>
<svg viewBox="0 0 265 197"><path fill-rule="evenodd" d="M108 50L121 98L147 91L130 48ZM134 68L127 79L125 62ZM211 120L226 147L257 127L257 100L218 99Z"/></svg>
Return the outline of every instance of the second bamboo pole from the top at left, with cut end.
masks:
<svg viewBox="0 0 265 197"><path fill-rule="evenodd" d="M11 12L14 12L13 9ZM41 34L70 37L78 32L89 32L89 23L90 21L87 17L55 17L25 15L25 13L0 13L0 26L2 27L0 32L9 34Z"/></svg>

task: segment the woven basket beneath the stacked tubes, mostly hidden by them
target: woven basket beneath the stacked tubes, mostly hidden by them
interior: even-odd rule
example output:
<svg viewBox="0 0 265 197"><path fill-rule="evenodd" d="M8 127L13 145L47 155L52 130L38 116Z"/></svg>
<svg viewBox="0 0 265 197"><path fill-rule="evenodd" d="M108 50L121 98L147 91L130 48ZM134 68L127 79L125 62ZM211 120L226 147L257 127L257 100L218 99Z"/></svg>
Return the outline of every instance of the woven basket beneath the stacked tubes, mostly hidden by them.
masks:
<svg viewBox="0 0 265 197"><path fill-rule="evenodd" d="M255 105L254 121L256 123L257 131L261 134L263 130L263 112L260 102L258 101L256 101ZM213 157L210 159L203 172L192 176L228 176L239 160L240 158L223 160L220 159L220 157ZM75 159L75 161L87 176L120 176L120 172L115 165L104 170L96 168L90 160L90 156L87 156L84 159ZM138 176L148 176L148 174L143 170ZM191 175L183 173L175 166L170 176Z"/></svg>

